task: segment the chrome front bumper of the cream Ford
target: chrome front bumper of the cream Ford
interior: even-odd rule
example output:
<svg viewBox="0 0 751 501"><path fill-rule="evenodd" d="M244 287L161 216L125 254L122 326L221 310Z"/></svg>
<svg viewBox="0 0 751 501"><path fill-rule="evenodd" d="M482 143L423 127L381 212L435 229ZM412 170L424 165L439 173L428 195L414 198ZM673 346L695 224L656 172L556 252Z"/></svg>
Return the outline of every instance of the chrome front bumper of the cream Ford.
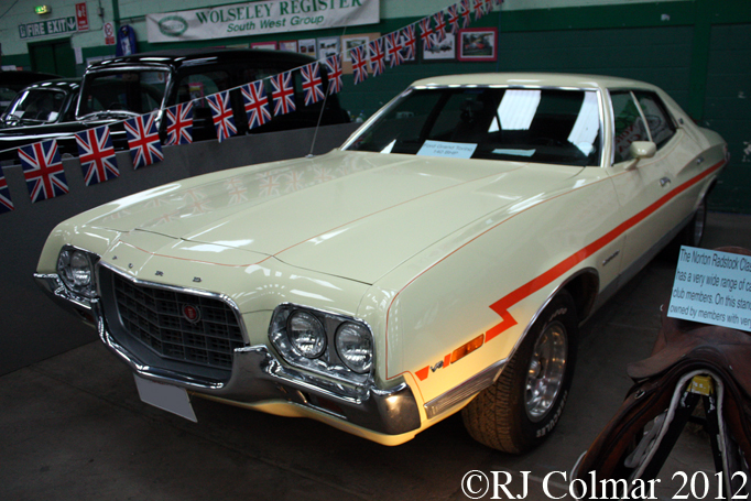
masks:
<svg viewBox="0 0 751 501"><path fill-rule="evenodd" d="M265 345L236 349L227 380L154 367L142 361L112 336L99 299L88 302L72 295L56 274L36 274L35 277L55 302L68 308L73 306L92 320L105 345L141 378L261 410L263 404L291 405L305 411L301 413L303 415L322 417L322 421L344 429L355 427L375 435L403 435L415 433L421 427L418 405L406 383L381 390L372 383L353 385L325 380L282 363Z"/></svg>

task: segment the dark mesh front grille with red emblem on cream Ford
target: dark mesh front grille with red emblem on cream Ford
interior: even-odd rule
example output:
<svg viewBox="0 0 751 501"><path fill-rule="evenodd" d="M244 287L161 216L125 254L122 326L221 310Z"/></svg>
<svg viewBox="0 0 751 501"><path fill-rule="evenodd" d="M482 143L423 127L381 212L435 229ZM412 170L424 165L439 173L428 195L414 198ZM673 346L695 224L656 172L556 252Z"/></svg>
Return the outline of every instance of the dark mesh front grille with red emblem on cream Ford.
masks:
<svg viewBox="0 0 751 501"><path fill-rule="evenodd" d="M235 311L215 297L133 283L112 274L120 323L127 335L164 359L231 369L244 346Z"/></svg>

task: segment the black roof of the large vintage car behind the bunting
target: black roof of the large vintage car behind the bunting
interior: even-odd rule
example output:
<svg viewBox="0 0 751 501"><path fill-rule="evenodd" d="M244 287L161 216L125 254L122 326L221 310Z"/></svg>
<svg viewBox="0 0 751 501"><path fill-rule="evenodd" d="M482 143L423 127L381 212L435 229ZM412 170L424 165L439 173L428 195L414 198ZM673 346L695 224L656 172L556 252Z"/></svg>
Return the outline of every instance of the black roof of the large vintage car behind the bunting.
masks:
<svg viewBox="0 0 751 501"><path fill-rule="evenodd" d="M293 65L306 65L314 59L305 54L287 51L265 51L252 48L175 48L166 51L144 52L128 56L113 57L110 59L92 63L88 69L105 69L113 66L124 66L129 64L165 64L178 67L186 64L210 59L211 63L239 63L252 59L254 63L287 62Z"/></svg>

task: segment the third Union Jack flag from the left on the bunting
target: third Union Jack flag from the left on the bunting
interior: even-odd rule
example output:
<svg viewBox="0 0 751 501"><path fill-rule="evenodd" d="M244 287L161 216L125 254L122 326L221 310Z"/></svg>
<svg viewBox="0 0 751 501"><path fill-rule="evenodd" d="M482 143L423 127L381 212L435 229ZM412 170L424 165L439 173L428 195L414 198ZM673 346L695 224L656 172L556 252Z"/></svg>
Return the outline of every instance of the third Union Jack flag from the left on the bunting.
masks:
<svg viewBox="0 0 751 501"><path fill-rule="evenodd" d="M108 126L78 132L76 144L86 186L120 176Z"/></svg>

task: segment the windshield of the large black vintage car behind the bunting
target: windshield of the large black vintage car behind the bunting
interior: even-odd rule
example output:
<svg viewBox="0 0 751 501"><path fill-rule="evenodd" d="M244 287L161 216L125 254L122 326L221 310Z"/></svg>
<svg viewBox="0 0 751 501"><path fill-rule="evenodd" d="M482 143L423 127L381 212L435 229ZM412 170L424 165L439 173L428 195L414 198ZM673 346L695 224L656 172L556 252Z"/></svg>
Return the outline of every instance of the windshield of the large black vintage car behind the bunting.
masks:
<svg viewBox="0 0 751 501"><path fill-rule="evenodd" d="M142 115L160 109L166 70L101 72L86 75L77 117L107 112Z"/></svg>

